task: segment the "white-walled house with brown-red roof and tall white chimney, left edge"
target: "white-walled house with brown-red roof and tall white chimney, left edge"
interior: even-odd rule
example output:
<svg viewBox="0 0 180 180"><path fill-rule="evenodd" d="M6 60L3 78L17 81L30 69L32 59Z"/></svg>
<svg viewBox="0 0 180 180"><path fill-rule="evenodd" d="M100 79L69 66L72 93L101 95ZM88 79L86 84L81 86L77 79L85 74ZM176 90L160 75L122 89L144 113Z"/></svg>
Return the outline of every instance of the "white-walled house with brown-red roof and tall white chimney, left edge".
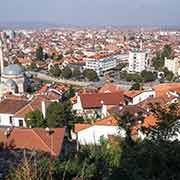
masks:
<svg viewBox="0 0 180 180"><path fill-rule="evenodd" d="M42 95L29 99L5 98L0 101L0 126L26 127L26 114L40 110L45 118L51 102L47 96Z"/></svg>

